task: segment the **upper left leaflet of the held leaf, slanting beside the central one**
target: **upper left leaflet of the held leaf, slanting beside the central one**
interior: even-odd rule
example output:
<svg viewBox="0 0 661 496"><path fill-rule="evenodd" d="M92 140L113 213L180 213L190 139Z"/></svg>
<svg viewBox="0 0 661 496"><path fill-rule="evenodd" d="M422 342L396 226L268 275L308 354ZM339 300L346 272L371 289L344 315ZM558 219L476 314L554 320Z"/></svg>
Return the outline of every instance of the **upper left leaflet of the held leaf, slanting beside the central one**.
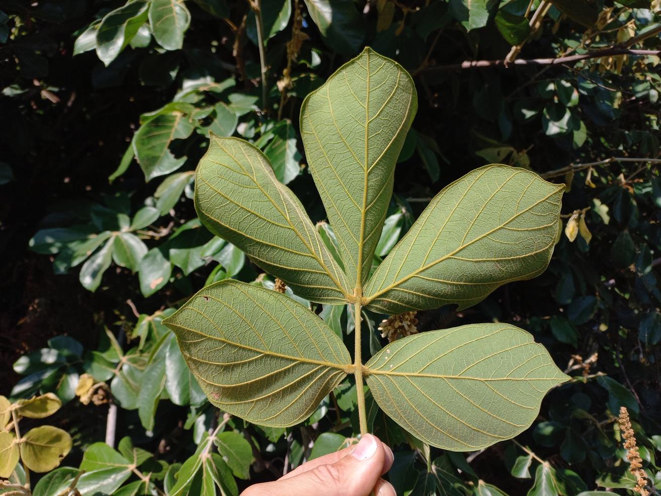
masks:
<svg viewBox="0 0 661 496"><path fill-rule="evenodd" d="M279 183L261 151L212 136L196 171L202 223L284 280L299 296L342 304L349 290L298 198Z"/></svg>

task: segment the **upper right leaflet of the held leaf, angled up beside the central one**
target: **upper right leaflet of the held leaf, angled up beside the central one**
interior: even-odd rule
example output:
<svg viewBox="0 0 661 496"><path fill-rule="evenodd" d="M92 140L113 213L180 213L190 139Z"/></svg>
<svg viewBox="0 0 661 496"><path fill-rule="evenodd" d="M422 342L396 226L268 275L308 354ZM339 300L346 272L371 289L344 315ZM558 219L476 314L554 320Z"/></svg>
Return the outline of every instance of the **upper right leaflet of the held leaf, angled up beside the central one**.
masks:
<svg viewBox="0 0 661 496"><path fill-rule="evenodd" d="M367 308L461 310L506 282L538 276L553 253L563 190L506 165L468 173L436 195L374 272Z"/></svg>

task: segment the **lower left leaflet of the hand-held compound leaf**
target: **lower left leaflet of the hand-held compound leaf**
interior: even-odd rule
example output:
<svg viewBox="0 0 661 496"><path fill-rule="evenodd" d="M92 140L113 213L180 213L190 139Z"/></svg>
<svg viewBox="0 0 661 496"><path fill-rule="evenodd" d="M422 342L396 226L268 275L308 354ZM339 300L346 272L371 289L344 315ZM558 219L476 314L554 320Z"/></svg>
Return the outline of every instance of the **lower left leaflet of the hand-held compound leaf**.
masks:
<svg viewBox="0 0 661 496"><path fill-rule="evenodd" d="M305 420L353 370L342 341L289 296L224 280L163 320L217 407L249 422Z"/></svg>

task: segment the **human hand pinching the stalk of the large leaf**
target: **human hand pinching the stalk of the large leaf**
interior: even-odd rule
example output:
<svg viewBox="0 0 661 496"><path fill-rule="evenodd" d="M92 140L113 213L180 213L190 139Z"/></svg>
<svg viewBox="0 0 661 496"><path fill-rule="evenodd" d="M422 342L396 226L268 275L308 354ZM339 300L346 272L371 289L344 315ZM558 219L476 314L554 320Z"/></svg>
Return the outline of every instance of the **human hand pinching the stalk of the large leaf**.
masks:
<svg viewBox="0 0 661 496"><path fill-rule="evenodd" d="M381 479L394 459L388 446L364 434L358 444L310 460L277 481L251 485L241 496L396 496Z"/></svg>

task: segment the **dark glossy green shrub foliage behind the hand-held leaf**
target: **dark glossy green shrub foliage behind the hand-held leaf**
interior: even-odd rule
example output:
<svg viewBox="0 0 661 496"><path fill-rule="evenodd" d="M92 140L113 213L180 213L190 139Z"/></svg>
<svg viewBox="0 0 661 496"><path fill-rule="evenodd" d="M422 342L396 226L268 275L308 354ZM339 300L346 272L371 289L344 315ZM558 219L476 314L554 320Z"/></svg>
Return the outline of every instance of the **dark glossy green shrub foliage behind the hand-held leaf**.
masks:
<svg viewBox="0 0 661 496"><path fill-rule="evenodd" d="M635 479L615 422L623 405L658 484L659 9L658 0L1 2L0 392L55 393L64 404L48 424L73 437L70 468L36 485L32 474L34 494L70 487L78 468L83 495L236 494L350 442L349 382L300 426L248 425L210 407L160 322L204 284L273 284L196 218L192 171L210 131L260 147L332 244L298 112L364 46L402 63L420 101L379 257L436 192L485 163L567 184L564 234L545 274L467 310L416 318L419 331L514 323L574 379L549 393L528 431L473 454L430 450L368 397L372 431L395 450L398 493L625 494ZM353 339L344 308L315 310ZM367 317L369 356L386 342L376 329L386 316ZM114 414L116 449L102 442ZM10 480L24 477L19 465Z"/></svg>

